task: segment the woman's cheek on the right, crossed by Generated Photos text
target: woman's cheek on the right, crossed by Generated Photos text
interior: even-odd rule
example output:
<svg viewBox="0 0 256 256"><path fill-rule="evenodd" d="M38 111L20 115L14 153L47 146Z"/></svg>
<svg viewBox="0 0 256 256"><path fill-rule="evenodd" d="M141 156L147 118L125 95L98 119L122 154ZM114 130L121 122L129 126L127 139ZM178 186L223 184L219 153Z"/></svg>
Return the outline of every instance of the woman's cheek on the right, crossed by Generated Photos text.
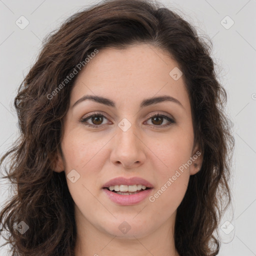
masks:
<svg viewBox="0 0 256 256"><path fill-rule="evenodd" d="M152 151L161 160L155 165L157 188L151 200L167 212L174 210L182 201L187 183L190 177L190 152L192 148L192 134L187 134L187 130L178 128L171 134L166 135L166 139L155 144ZM155 158L156 159L156 158ZM159 161L157 161L159 162Z"/></svg>

